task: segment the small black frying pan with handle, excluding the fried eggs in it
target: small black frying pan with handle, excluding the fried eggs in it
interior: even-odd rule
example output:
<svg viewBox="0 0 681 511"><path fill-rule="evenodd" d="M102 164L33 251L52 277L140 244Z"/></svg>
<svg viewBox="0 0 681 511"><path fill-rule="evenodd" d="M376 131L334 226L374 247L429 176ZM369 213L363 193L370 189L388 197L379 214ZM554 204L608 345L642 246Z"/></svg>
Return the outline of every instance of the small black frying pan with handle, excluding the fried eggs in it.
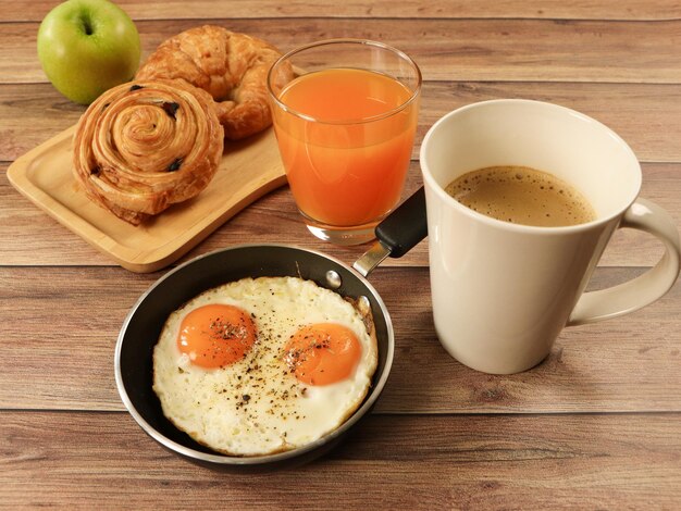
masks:
<svg viewBox="0 0 681 511"><path fill-rule="evenodd" d="M377 227L379 240L356 263L357 271L320 252L285 245L242 245L218 250L170 271L128 313L115 349L115 381L123 403L153 439L184 458L211 468L271 470L300 464L335 446L370 411L387 381L394 352L393 324L376 290L364 278L387 256L404 256L426 236L425 198L421 188ZM362 406L336 431L286 452L230 457L212 451L177 429L161 411L152 386L152 350L168 316L202 291L244 277L297 276L314 281L344 297L371 307L379 364ZM362 298L363 297L363 298Z"/></svg>

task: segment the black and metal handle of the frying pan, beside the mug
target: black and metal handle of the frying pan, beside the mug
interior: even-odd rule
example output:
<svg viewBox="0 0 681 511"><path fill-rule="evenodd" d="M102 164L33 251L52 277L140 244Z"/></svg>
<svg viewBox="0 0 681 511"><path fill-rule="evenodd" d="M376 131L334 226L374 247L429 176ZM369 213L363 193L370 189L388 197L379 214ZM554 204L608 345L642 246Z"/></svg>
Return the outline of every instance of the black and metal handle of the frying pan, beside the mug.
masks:
<svg viewBox="0 0 681 511"><path fill-rule="evenodd" d="M352 264L364 277L388 256L401 258L428 236L423 187L376 225L375 234L377 241Z"/></svg>

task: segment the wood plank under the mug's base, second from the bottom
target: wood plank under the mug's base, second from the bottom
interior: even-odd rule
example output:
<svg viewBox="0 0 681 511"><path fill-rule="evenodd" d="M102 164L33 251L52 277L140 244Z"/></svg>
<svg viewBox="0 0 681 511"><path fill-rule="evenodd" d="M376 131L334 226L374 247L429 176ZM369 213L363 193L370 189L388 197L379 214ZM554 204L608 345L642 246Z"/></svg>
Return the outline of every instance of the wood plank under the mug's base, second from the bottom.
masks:
<svg viewBox="0 0 681 511"><path fill-rule="evenodd" d="M640 273L599 270L593 286ZM113 377L117 333L158 276L116 267L0 266L0 408L122 410ZM564 331L530 372L492 376L459 364L437 341L428 269L379 269L371 282L396 333L381 412L681 412L681 286L621 319Z"/></svg>

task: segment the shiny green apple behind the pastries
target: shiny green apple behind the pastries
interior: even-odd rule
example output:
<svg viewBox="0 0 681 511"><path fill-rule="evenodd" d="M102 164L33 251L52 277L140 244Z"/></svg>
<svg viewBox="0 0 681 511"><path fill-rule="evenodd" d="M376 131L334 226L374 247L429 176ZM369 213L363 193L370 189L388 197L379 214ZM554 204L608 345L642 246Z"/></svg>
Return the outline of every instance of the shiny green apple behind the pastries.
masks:
<svg viewBox="0 0 681 511"><path fill-rule="evenodd" d="M103 91L133 79L139 66L139 34L131 17L107 0L67 0L38 29L38 59L57 90L89 104Z"/></svg>

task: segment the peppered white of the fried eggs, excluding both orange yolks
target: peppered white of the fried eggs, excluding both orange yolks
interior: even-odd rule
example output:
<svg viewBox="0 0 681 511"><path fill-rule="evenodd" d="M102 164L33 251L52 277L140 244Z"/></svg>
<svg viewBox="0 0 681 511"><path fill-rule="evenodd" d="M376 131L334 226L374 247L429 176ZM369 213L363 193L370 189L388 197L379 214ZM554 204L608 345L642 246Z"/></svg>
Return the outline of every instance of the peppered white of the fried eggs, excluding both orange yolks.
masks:
<svg viewBox="0 0 681 511"><path fill-rule="evenodd" d="M184 316L210 303L239 307L258 336L246 357L205 370L177 348ZM338 383L307 385L283 360L301 326L338 323L361 346L352 374ZM210 289L173 312L153 350L153 390L163 413L198 443L233 456L260 456L307 445L336 429L361 404L377 365L375 335L339 295L296 277L245 278Z"/></svg>

